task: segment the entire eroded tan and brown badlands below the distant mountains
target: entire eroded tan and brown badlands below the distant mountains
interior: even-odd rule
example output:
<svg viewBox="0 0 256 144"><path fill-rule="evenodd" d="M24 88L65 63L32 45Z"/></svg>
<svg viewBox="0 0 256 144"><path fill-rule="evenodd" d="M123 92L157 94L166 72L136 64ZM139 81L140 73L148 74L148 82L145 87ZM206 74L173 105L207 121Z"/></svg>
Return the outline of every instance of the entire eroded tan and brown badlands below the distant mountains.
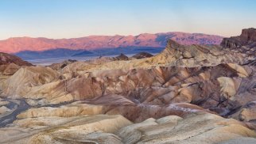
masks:
<svg viewBox="0 0 256 144"><path fill-rule="evenodd" d="M256 143L255 51L248 28L131 58L32 66L1 53L0 143Z"/></svg>

